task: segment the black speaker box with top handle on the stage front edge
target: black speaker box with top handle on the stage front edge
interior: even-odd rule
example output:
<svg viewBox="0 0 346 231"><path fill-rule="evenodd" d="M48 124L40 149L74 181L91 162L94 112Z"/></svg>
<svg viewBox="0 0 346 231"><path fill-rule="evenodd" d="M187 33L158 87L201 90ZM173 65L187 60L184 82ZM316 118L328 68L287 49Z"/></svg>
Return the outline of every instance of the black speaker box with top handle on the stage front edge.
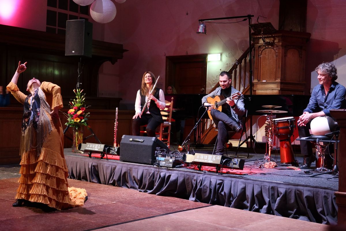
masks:
<svg viewBox="0 0 346 231"><path fill-rule="evenodd" d="M155 152L169 149L156 137L123 135L120 142L120 160L133 163L153 165L156 162Z"/></svg>

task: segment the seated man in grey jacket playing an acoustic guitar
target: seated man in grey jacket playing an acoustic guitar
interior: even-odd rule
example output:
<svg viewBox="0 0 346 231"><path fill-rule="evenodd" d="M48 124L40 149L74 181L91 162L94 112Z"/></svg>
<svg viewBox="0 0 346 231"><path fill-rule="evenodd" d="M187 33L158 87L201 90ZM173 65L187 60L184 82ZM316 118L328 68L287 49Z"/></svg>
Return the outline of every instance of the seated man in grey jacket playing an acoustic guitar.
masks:
<svg viewBox="0 0 346 231"><path fill-rule="evenodd" d="M227 71L222 71L219 76L220 87L202 98L202 105L209 106L208 112L218 128L216 155L224 154L228 131L241 132L243 129L241 121L245 114L244 98L231 83L231 75ZM225 99L213 100L216 98ZM220 103L223 105L220 106Z"/></svg>

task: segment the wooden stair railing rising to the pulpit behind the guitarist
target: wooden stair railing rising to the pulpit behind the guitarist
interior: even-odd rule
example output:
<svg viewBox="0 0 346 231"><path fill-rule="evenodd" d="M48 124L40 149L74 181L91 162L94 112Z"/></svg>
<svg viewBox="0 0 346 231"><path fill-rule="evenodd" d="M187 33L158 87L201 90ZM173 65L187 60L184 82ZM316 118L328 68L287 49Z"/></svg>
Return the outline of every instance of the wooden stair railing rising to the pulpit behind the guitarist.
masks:
<svg viewBox="0 0 346 231"><path fill-rule="evenodd" d="M254 44L251 45L251 50L253 50L253 48ZM243 95L248 95L250 93L249 77L251 76L251 74L248 65L249 53L249 48L247 48L247 50L228 70L228 72L232 76L232 86L238 91L242 92ZM219 82L217 82L216 85L209 91L209 93L214 91L219 86ZM201 143L209 144L215 139L217 132L215 131L213 122L210 119L204 124L205 126L203 126L202 128Z"/></svg>

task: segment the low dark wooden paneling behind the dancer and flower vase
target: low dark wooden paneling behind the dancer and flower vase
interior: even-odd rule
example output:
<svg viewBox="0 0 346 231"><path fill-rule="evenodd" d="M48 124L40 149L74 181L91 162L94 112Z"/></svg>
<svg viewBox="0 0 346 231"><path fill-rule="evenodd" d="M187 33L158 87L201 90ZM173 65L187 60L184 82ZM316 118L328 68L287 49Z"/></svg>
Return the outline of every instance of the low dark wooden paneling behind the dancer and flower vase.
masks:
<svg viewBox="0 0 346 231"><path fill-rule="evenodd" d="M66 117L68 109L61 109L59 116L63 129L66 125ZM96 134L102 144L113 145L114 142L114 121L115 110L88 110L90 112L89 125ZM0 165L8 165L20 162L20 137L21 137L21 121L23 115L22 107L0 107ZM120 144L122 135L131 134L132 110L118 111L118 143ZM85 128L84 137L90 135L90 131ZM64 138L64 148L71 148L72 128L70 127ZM97 143L94 137L90 137L84 141L89 143Z"/></svg>

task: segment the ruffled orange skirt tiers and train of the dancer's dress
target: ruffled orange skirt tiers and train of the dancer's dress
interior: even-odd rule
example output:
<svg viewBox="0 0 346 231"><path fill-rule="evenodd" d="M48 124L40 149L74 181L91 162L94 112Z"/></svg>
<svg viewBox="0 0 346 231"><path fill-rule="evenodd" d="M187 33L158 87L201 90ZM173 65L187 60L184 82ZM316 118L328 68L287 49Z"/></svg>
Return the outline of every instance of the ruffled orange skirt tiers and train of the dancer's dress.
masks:
<svg viewBox="0 0 346 231"><path fill-rule="evenodd" d="M46 148L37 157L36 150L23 153L16 199L38 202L61 210L82 206L85 189L68 187L67 166L61 154Z"/></svg>

